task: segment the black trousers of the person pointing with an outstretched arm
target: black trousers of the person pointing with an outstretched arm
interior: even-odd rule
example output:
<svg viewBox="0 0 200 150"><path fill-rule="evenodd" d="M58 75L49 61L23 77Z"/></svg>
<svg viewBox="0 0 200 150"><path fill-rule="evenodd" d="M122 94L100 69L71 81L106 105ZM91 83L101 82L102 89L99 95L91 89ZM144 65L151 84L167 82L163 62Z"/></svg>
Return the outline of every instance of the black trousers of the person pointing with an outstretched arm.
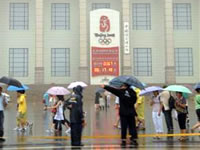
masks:
<svg viewBox="0 0 200 150"><path fill-rule="evenodd" d="M121 139L126 139L127 129L129 128L129 134L131 135L131 140L137 139L137 129L135 125L134 116L120 116L121 122Z"/></svg>

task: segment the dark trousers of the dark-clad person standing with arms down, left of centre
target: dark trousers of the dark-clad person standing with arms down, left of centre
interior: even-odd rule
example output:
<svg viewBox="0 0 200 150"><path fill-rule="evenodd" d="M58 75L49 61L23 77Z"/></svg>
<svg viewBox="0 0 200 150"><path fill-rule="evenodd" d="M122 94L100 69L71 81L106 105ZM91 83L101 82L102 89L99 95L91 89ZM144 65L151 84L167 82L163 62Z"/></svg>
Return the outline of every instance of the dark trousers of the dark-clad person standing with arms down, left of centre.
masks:
<svg viewBox="0 0 200 150"><path fill-rule="evenodd" d="M82 124L71 123L71 145L72 146L81 145L81 134L82 134Z"/></svg>

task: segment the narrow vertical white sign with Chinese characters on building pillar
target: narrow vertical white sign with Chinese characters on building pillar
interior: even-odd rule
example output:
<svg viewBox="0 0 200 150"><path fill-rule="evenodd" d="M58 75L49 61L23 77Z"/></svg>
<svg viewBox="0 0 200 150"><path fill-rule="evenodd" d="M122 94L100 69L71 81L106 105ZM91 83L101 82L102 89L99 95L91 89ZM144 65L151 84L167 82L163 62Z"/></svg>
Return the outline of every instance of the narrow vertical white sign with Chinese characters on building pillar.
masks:
<svg viewBox="0 0 200 150"><path fill-rule="evenodd" d="M124 53L129 54L129 23L124 22Z"/></svg>

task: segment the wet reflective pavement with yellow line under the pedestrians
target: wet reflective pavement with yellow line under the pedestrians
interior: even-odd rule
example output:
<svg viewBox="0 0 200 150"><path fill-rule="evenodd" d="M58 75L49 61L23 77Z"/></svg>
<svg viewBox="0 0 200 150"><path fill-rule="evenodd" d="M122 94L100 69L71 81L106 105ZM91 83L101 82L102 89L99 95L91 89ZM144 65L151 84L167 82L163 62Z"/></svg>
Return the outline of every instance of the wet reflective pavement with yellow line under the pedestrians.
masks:
<svg viewBox="0 0 200 150"><path fill-rule="evenodd" d="M16 95L11 94L12 102L9 103L5 110L4 131L6 142L0 143L2 149L26 150L26 149L48 149L61 150L70 149L70 137L65 134L65 127L60 134L48 133L50 125L50 111L43 111L42 93L47 89L43 87L39 89L33 86L32 91L27 93L28 103L28 120L33 122L32 131L17 132L13 128L16 127ZM84 147L82 149L131 149L127 144L126 148L120 147L120 130L113 127L115 122L114 98L111 101L111 106L105 110L95 111L94 109L94 91L95 87L89 87L84 91L84 111L87 112L86 121L87 126L83 130ZM37 93L37 94L36 94ZM194 110L194 103L189 100L189 115L190 126L197 121ZM66 111L66 116L69 112ZM148 100L145 101L145 120L146 130L139 131L139 146L137 149L199 149L199 136L189 137L186 142L179 142L179 137L173 139L162 137L160 140L155 140L149 134L153 134L154 126L151 117L151 107ZM163 118L164 129L166 133L166 126ZM178 122L174 120L175 133L179 133ZM197 131L198 132L198 131ZM149 135L151 137L145 137ZM135 147L133 147L135 149Z"/></svg>

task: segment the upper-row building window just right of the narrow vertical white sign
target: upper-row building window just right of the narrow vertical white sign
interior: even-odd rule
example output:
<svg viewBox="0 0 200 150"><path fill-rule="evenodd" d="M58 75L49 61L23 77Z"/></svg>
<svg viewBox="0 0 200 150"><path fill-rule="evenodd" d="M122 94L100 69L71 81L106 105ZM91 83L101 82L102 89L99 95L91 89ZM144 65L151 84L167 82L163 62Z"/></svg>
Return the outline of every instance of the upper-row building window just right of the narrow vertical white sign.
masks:
<svg viewBox="0 0 200 150"><path fill-rule="evenodd" d="M132 11L133 29L151 30L151 5L149 3L134 3Z"/></svg>

